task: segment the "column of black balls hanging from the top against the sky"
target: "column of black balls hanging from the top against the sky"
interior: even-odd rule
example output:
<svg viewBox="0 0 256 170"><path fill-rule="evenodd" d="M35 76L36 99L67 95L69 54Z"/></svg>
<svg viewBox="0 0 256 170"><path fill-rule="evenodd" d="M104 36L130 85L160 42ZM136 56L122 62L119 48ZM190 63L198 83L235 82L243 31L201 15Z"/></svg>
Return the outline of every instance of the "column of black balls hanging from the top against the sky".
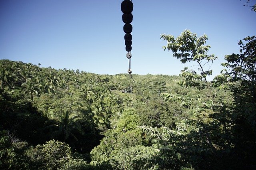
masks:
<svg viewBox="0 0 256 170"><path fill-rule="evenodd" d="M122 16L122 20L124 22L124 32L126 33L124 36L125 40L125 49L127 52L132 51L132 10L133 10L133 3L130 0L124 0L121 3L121 10L124 13Z"/></svg>

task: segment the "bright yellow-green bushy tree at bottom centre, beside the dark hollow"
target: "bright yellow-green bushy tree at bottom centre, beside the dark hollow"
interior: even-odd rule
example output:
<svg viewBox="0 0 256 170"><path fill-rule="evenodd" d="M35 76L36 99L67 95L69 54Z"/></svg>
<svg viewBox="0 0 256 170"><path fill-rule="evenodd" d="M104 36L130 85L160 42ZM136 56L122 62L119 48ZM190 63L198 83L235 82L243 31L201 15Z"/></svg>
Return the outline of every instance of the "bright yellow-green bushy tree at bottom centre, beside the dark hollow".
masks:
<svg viewBox="0 0 256 170"><path fill-rule="evenodd" d="M147 150L154 150L152 147L146 147L142 144L148 144L145 134L142 133L138 126L138 115L134 109L126 109L116 129L108 130L105 137L101 140L100 145L95 147L90 154L92 155L92 162L98 166L102 164L110 164L114 169L136 169L142 168L144 164L143 158L149 158L152 152ZM124 155L127 155L125 156ZM136 155L141 154L143 160L137 160ZM136 158L135 158L136 157ZM130 164L134 161L134 164ZM142 162L141 165L137 162Z"/></svg>

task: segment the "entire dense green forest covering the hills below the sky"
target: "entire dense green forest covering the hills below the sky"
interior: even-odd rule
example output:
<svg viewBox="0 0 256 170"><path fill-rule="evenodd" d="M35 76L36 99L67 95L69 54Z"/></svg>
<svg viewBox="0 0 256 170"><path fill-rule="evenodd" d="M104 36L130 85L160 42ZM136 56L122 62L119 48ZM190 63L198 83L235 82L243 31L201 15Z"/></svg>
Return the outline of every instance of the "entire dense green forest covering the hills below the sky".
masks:
<svg viewBox="0 0 256 170"><path fill-rule="evenodd" d="M161 38L196 69L98 75L0 60L0 169L256 169L256 36L212 81L205 35Z"/></svg>

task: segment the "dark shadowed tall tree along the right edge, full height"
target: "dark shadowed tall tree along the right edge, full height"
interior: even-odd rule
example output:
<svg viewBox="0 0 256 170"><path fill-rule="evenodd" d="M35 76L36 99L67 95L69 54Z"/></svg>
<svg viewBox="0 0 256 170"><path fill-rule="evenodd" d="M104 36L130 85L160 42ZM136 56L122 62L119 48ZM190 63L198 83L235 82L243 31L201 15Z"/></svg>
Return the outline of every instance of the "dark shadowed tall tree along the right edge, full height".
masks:
<svg viewBox="0 0 256 170"><path fill-rule="evenodd" d="M246 37L238 45L240 53L226 55L227 62L222 65L227 67L225 75L233 82L230 90L234 94L231 115L232 133L236 136L234 147L242 160L251 166L256 150L256 36Z"/></svg>

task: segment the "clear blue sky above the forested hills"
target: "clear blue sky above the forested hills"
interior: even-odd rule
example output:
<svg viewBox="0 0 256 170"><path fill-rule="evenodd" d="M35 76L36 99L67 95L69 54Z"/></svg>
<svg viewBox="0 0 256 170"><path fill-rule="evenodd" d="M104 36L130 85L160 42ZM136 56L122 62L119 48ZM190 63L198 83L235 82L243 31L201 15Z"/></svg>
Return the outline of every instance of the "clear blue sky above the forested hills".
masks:
<svg viewBox="0 0 256 170"><path fill-rule="evenodd" d="M164 51L160 34L206 34L219 60L256 35L247 0L132 0L132 71L178 75L185 66ZM127 73L122 0L0 0L0 59L98 74ZM255 0L250 1L255 4Z"/></svg>

